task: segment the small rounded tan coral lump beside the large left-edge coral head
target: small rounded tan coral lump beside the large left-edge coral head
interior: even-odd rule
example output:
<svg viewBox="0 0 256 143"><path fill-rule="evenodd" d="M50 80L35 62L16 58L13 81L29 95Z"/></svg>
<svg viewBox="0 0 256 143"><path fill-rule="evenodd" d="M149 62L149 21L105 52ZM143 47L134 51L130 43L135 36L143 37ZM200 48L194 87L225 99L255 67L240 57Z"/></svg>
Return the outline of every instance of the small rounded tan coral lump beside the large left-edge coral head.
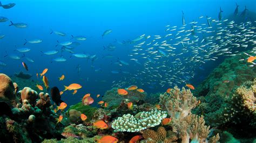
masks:
<svg viewBox="0 0 256 143"><path fill-rule="evenodd" d="M35 105L36 99L38 98L38 94L37 94L37 91L31 88L25 87L22 90L21 98L22 98L22 101L26 99L31 105Z"/></svg>

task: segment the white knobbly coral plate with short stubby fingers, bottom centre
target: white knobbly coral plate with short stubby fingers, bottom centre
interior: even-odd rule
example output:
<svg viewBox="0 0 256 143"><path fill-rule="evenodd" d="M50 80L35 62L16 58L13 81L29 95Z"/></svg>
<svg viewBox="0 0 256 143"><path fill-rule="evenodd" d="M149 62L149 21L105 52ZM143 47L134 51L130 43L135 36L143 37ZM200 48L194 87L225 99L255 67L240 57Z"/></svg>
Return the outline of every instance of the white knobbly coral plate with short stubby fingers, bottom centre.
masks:
<svg viewBox="0 0 256 143"><path fill-rule="evenodd" d="M127 114L123 117L118 117L111 126L117 132L138 132L159 125L166 116L166 113L160 110L140 112L135 117Z"/></svg>

